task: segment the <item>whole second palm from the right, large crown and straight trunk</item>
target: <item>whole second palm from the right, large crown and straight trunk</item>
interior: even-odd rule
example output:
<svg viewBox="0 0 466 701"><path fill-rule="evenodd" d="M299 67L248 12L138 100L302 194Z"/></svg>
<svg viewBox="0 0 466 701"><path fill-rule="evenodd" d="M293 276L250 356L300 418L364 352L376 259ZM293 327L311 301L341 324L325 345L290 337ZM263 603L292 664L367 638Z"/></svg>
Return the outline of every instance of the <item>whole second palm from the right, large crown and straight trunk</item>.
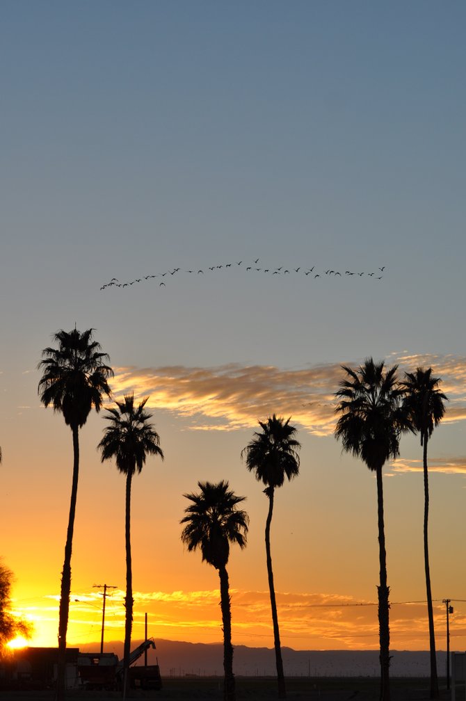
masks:
<svg viewBox="0 0 466 701"><path fill-rule="evenodd" d="M380 584L378 589L378 624L381 660L381 700L390 700L390 622L383 522L383 465L399 455L399 437L409 422L400 407L402 390L397 386L397 365L385 371L384 363L364 361L357 370L342 365L347 378L335 393L340 400L336 413L335 436L343 450L361 458L376 473L378 504L378 547Z"/></svg>

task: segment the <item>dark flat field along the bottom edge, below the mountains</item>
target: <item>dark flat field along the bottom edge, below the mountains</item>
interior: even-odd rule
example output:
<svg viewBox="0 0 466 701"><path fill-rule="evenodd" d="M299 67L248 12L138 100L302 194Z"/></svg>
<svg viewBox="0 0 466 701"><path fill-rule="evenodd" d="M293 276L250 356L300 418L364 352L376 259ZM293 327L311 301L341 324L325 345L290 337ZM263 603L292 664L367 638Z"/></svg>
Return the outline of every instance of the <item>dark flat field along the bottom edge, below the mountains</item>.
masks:
<svg viewBox="0 0 466 701"><path fill-rule="evenodd" d="M451 693L441 680L441 699L449 700ZM392 679L390 682L392 701L421 701L429 698L429 680ZM309 679L297 677L287 679L287 698L301 701L378 701L378 679L372 677L320 677ZM263 677L237 677L236 697L238 701L272 701L277 699L275 679ZM6 699L7 697L4 696ZM53 701L52 691L9 691L8 701ZM160 691L132 690L128 699L135 701L208 701L221 700L222 681L213 677L164 679ZM457 695L463 701L464 692ZM117 701L121 693L115 691L73 690L67 693L67 701Z"/></svg>

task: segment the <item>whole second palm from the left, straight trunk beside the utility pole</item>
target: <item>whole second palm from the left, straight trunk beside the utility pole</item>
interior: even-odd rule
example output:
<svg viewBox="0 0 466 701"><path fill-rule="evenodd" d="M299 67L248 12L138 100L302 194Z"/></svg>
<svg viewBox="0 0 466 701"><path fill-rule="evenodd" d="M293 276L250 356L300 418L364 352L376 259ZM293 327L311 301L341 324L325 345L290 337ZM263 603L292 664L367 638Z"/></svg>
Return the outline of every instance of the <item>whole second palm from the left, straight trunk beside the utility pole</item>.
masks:
<svg viewBox="0 0 466 701"><path fill-rule="evenodd" d="M125 597L125 644L123 648L123 689L126 689L132 629L132 567L131 567L131 481L141 472L148 455L158 455L163 460L160 437L149 419L152 414L144 410L146 397L135 407L134 395L126 395L123 402L115 402L116 408L107 409L104 418L109 421L104 437L97 446L102 452L101 461L115 458L118 472L126 475L125 493L125 545L126 545L126 597Z"/></svg>

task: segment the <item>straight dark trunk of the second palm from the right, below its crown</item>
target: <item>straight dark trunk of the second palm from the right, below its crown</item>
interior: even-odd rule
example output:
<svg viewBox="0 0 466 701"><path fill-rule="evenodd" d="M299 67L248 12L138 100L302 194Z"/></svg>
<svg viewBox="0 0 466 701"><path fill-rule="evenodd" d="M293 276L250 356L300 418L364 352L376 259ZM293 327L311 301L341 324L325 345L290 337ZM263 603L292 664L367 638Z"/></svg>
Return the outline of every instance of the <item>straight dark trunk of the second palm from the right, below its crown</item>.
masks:
<svg viewBox="0 0 466 701"><path fill-rule="evenodd" d="M378 512L378 554L381 566L378 590L378 631L381 646L381 701L390 701L390 620L387 586L387 553L385 552L385 526L383 524L383 484L382 465L376 468L377 512Z"/></svg>

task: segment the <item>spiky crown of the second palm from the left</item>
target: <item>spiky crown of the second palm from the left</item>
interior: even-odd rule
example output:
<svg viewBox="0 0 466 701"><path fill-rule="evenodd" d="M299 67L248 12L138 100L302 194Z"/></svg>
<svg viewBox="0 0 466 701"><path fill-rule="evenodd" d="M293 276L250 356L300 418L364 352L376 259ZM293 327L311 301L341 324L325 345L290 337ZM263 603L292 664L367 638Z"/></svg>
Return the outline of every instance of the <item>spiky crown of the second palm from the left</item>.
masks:
<svg viewBox="0 0 466 701"><path fill-rule="evenodd" d="M160 437L148 423L152 414L144 410L146 397L135 407L134 395L127 395L123 402L115 402L118 408L106 409L104 416L110 425L98 448L102 451L102 462L115 458L116 467L123 474L141 472L146 456L158 455L163 459Z"/></svg>

